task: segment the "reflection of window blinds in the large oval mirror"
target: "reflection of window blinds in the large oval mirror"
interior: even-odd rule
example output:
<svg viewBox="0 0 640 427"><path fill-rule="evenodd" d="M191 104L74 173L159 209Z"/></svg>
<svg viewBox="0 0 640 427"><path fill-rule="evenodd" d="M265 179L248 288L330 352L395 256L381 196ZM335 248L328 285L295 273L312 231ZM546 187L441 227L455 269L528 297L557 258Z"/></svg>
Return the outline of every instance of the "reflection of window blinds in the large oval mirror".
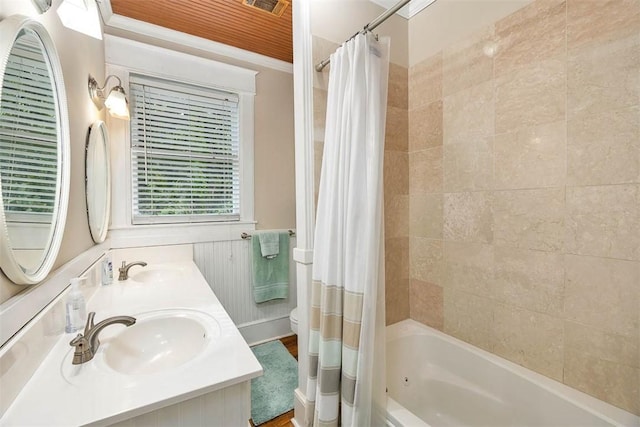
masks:
<svg viewBox="0 0 640 427"><path fill-rule="evenodd" d="M8 220L39 222L56 199L58 129L50 71L33 36L18 39L0 101L0 176ZM27 215L27 216L25 216ZM30 216L29 216L30 215Z"/></svg>

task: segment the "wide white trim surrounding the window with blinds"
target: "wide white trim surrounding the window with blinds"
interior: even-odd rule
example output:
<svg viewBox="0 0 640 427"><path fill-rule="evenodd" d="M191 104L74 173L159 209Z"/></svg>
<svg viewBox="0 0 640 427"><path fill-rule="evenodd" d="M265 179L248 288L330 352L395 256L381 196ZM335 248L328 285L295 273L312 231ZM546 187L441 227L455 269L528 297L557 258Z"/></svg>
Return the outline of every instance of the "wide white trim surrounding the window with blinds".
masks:
<svg viewBox="0 0 640 427"><path fill-rule="evenodd" d="M122 80L127 97L129 76L132 74L237 94L240 140L239 220L134 224L130 123L107 117L112 158L111 246L229 240L237 238L243 231L254 230L253 144L257 71L111 35L105 35L105 58L106 75L114 74Z"/></svg>

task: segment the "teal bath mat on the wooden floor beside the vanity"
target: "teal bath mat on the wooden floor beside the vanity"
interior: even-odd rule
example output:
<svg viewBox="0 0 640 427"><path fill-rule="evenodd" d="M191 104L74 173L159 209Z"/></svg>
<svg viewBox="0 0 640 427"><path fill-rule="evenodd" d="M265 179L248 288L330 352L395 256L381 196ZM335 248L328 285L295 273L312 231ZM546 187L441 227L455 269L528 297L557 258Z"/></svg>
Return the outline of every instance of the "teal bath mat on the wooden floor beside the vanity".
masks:
<svg viewBox="0 0 640 427"><path fill-rule="evenodd" d="M264 375L251 380L251 418L259 425L293 409L298 362L280 341L252 347Z"/></svg>

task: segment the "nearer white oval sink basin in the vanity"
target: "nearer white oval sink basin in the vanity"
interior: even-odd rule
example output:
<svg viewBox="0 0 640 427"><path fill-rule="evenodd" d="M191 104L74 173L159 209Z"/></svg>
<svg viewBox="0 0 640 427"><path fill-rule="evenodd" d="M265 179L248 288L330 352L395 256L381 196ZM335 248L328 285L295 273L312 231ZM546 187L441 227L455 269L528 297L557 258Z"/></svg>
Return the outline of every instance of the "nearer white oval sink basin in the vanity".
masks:
<svg viewBox="0 0 640 427"><path fill-rule="evenodd" d="M127 375L177 368L206 351L220 335L215 319L192 310L162 310L136 317L136 323L104 342L104 362Z"/></svg>

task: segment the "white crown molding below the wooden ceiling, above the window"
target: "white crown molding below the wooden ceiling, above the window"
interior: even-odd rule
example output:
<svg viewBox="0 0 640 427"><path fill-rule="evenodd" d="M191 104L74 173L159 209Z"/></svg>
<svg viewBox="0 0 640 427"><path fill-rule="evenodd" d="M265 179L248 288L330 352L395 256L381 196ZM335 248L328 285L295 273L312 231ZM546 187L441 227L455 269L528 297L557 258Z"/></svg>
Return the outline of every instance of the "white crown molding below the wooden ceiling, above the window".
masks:
<svg viewBox="0 0 640 427"><path fill-rule="evenodd" d="M192 36L180 31L171 30L148 22L138 21L122 15L116 15L111 8L110 0L98 2L100 14L104 21L104 32L109 34L110 29L129 31L142 36L153 37L158 40L176 43L181 46L203 50L216 55L244 61L253 65L270 68L285 73L293 73L293 64L266 55L250 52L234 46L208 40L202 37Z"/></svg>

